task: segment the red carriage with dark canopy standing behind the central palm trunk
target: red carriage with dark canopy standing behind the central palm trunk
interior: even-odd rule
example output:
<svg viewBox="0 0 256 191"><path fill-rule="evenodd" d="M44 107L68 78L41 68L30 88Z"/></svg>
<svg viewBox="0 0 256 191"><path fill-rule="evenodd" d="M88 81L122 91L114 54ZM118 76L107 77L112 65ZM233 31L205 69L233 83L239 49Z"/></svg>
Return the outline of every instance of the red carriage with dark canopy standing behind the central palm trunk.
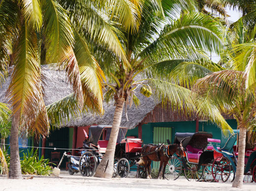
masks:
<svg viewBox="0 0 256 191"><path fill-rule="evenodd" d="M79 171L83 176L92 176L106 152L111 133L111 126L98 125L89 128L89 140L83 142ZM127 128L120 127L116 141L114 174L127 177L130 166L141 155L142 141L134 136L125 137Z"/></svg>

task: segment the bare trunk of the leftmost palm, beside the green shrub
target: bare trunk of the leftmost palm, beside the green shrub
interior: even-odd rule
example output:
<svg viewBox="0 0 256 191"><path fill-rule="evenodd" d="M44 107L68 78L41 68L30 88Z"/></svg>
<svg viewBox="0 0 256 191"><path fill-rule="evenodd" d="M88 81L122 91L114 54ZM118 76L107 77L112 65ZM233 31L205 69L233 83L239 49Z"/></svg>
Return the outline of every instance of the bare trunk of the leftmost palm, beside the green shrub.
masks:
<svg viewBox="0 0 256 191"><path fill-rule="evenodd" d="M19 122L15 115L12 116L11 135L10 135L10 169L9 178L22 178L19 155Z"/></svg>

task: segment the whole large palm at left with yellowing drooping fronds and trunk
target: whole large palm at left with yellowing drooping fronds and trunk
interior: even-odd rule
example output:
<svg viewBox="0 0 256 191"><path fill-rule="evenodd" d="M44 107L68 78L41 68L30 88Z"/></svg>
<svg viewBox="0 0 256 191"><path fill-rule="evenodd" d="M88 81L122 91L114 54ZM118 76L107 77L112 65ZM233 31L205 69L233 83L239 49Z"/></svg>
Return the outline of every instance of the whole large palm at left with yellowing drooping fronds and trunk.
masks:
<svg viewBox="0 0 256 191"><path fill-rule="evenodd" d="M119 6L124 1L0 0L1 81L7 67L13 66L7 93L12 108L9 178L21 178L18 132L37 137L49 132L41 64L57 63L65 69L78 109L103 112L105 77L88 43L93 41L127 63L117 31L104 19L111 13L116 24L135 30L138 10L130 3Z"/></svg>

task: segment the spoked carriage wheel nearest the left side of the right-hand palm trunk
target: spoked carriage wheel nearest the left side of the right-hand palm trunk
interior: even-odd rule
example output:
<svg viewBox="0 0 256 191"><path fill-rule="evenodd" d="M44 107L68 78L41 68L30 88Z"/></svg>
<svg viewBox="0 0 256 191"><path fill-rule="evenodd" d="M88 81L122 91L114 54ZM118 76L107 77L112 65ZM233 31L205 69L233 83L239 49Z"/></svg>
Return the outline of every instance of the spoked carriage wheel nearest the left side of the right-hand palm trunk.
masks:
<svg viewBox="0 0 256 191"><path fill-rule="evenodd" d="M231 173L233 174L232 179L234 179L233 168L230 164L230 161L226 157L219 156L214 160L213 167L212 167L212 174L216 182L219 182L220 178L222 182L226 182L227 180L229 180Z"/></svg>

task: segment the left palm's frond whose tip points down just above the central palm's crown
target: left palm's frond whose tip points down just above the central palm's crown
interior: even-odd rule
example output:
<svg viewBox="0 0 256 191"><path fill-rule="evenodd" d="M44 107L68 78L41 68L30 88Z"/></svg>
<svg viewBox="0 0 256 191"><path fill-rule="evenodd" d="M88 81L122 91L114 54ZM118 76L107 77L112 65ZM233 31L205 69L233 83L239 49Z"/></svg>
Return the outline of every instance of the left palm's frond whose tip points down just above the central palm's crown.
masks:
<svg viewBox="0 0 256 191"><path fill-rule="evenodd" d="M65 1L63 6L70 12L69 15L75 28L82 28L82 32L87 34L88 39L95 42L96 46L109 50L128 64L125 52L118 39L118 37L123 38L122 33L112 25L108 15L101 12L97 7L93 7L92 3L84 3L78 0L74 4ZM101 6L103 5L101 4Z"/></svg>

